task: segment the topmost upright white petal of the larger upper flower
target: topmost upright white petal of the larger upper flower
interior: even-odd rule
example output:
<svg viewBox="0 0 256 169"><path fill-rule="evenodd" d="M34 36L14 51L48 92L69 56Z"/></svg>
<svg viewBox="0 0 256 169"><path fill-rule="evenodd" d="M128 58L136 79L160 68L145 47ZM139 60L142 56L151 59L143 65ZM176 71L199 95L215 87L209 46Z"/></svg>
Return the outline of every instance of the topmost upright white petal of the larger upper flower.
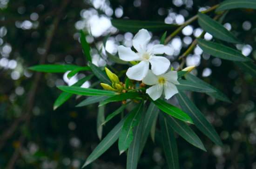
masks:
<svg viewBox="0 0 256 169"><path fill-rule="evenodd" d="M147 50L151 37L146 29L141 29L133 38L133 46L140 53Z"/></svg>

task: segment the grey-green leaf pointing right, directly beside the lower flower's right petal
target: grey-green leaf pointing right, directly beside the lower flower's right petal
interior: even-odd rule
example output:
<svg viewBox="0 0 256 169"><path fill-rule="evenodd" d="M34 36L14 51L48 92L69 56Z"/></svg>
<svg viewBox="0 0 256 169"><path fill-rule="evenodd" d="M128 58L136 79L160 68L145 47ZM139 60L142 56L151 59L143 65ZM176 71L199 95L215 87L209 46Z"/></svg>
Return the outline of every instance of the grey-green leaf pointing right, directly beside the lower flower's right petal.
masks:
<svg viewBox="0 0 256 169"><path fill-rule="evenodd" d="M186 91L202 92L202 93L215 92L215 90L213 90L212 88L209 88L201 83L194 83L192 81L187 81L183 79L180 79L178 81L180 83L179 85L176 85L178 90L186 90Z"/></svg>

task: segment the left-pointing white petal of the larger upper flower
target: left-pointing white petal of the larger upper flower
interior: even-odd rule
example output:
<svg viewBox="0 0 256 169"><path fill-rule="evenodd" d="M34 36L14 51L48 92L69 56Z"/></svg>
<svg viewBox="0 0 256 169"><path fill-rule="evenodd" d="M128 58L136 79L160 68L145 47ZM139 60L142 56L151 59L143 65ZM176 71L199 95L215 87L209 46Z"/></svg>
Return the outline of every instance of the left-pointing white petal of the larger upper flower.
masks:
<svg viewBox="0 0 256 169"><path fill-rule="evenodd" d="M123 45L118 46L119 58L123 61L141 61L141 57L137 55L131 48L124 47Z"/></svg>

